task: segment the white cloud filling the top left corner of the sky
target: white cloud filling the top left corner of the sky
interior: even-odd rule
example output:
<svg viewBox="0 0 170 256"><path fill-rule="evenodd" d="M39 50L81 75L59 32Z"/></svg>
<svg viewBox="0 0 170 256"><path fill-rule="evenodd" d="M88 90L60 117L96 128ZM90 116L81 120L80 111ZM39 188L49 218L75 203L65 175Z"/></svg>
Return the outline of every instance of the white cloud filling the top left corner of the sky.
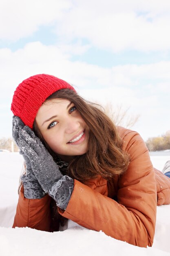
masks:
<svg viewBox="0 0 170 256"><path fill-rule="evenodd" d="M1 0L0 39L15 41L30 36L41 25L52 25L69 0Z"/></svg>

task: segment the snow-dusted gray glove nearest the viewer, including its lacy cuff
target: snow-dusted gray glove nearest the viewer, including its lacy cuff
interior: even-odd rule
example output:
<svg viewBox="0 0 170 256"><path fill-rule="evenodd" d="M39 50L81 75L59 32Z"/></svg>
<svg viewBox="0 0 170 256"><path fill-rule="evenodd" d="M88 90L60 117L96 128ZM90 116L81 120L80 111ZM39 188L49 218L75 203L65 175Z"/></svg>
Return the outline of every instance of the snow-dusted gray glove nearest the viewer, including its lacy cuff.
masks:
<svg viewBox="0 0 170 256"><path fill-rule="evenodd" d="M18 144L29 158L33 173L44 191L65 210L73 192L73 179L62 175L49 151L28 126L19 130Z"/></svg>

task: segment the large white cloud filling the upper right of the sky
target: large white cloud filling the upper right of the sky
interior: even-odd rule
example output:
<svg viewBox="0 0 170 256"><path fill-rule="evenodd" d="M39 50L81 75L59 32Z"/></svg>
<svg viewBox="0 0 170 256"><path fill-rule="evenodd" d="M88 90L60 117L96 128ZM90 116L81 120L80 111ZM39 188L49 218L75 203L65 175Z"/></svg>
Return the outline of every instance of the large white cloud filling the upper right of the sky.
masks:
<svg viewBox="0 0 170 256"><path fill-rule="evenodd" d="M93 46L120 52L170 49L170 2L75 1L57 25L61 40L87 39Z"/></svg>

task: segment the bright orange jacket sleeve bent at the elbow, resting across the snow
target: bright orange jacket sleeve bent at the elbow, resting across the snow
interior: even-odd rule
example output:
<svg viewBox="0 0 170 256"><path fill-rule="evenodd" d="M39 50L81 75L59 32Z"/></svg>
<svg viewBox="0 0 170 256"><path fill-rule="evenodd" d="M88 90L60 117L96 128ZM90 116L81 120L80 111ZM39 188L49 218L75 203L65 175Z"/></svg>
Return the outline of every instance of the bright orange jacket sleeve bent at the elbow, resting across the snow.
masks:
<svg viewBox="0 0 170 256"><path fill-rule="evenodd" d="M152 246L157 193L148 149L137 132L124 137L130 155L126 173L120 176L117 201L75 180L73 193L60 214L79 225L140 247Z"/></svg>

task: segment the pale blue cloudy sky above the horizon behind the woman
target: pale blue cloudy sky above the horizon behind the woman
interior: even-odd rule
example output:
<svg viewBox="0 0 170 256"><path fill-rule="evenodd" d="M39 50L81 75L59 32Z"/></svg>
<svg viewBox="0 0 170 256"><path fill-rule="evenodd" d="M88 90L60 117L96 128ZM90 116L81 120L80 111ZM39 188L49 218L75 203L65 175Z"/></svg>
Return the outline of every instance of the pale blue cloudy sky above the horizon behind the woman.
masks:
<svg viewBox="0 0 170 256"><path fill-rule="evenodd" d="M170 130L169 0L2 0L0 22L0 137L12 135L15 88L40 73L130 108L145 140Z"/></svg>

